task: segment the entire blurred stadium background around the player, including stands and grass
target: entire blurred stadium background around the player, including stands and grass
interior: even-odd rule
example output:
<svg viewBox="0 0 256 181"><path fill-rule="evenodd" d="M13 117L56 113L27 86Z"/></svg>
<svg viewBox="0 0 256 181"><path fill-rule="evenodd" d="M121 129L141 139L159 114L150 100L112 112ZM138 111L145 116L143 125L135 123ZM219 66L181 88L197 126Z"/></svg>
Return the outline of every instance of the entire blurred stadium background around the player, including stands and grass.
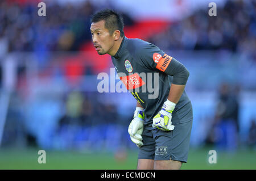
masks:
<svg viewBox="0 0 256 181"><path fill-rule="evenodd" d="M190 71L194 120L181 169L256 169L256 1L231 0L0 1L0 169L136 168L127 133L135 99L97 91L98 73L114 67L94 50L89 18L107 7L123 14L125 36Z"/></svg>

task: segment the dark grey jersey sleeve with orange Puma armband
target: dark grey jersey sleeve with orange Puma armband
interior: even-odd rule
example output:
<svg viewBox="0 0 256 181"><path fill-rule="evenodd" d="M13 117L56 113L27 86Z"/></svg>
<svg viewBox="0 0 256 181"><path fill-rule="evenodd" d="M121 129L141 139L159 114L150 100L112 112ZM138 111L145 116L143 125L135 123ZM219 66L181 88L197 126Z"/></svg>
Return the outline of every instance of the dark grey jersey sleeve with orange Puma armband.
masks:
<svg viewBox="0 0 256 181"><path fill-rule="evenodd" d="M168 56L154 44L145 43L137 49L144 66L149 69L158 69L173 76L172 83L185 85L189 77L189 71L175 58Z"/></svg>

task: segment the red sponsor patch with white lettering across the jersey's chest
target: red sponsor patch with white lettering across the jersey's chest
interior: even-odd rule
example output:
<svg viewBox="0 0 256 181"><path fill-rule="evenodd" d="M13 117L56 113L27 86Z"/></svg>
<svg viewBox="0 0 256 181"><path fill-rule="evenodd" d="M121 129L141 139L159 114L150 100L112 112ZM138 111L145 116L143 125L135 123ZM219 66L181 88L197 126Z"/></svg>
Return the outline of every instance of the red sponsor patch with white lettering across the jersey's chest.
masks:
<svg viewBox="0 0 256 181"><path fill-rule="evenodd" d="M145 84L145 82L142 80L141 77L139 77L139 74L137 73L120 77L120 79L123 82L123 84L126 86L127 90L136 89Z"/></svg>

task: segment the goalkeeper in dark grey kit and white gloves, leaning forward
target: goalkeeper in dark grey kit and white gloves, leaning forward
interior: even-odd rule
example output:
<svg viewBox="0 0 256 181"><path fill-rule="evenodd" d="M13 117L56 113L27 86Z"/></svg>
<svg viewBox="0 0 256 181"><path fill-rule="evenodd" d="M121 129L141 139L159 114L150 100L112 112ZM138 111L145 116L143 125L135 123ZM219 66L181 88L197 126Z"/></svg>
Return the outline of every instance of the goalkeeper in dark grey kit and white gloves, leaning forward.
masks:
<svg viewBox="0 0 256 181"><path fill-rule="evenodd" d="M117 12L101 10L91 21L96 51L110 54L119 78L137 99L128 128L139 148L137 169L180 169L187 162L193 119L184 91L188 70L155 45L125 37ZM151 78L143 78L142 73ZM154 85L157 96L147 90L148 83Z"/></svg>

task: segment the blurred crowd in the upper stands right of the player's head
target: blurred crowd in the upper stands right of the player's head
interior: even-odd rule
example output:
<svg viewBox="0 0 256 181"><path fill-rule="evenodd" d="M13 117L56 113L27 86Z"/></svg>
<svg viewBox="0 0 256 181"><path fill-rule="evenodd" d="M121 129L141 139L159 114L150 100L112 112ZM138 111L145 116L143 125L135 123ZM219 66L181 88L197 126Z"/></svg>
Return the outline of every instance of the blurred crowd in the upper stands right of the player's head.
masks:
<svg viewBox="0 0 256 181"><path fill-rule="evenodd" d="M256 60L256 1L227 1L217 16L199 10L151 37L163 49L232 50Z"/></svg>

